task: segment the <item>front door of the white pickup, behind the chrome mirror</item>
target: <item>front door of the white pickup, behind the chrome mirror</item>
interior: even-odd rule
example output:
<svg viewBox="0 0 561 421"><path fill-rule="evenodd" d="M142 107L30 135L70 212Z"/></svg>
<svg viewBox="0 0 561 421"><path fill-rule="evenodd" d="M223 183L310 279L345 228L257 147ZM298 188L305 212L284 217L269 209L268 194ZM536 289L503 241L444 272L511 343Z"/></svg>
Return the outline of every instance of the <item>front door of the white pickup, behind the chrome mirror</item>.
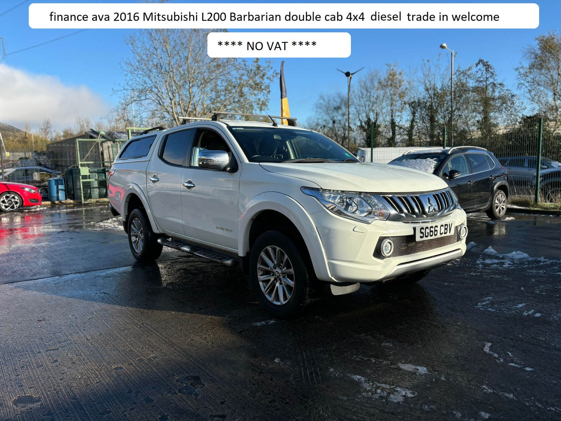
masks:
<svg viewBox="0 0 561 421"><path fill-rule="evenodd" d="M241 168L237 171L212 171L200 168L197 157L200 149L226 150L231 162L237 162L225 136L217 130L196 129L189 165L183 173L181 202L185 235L218 248L235 251L238 248L238 198ZM232 166L237 167L237 164ZM191 186L192 185L192 186Z"/></svg>

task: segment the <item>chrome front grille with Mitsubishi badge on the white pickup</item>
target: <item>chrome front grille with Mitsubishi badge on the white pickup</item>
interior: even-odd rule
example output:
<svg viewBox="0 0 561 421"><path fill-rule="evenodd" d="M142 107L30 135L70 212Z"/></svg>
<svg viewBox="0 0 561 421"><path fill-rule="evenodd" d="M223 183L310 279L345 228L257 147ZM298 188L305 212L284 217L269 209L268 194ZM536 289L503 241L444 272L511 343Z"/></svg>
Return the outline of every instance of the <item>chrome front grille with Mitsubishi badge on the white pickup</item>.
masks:
<svg viewBox="0 0 561 421"><path fill-rule="evenodd" d="M422 194L383 194L376 199L389 205L389 221L427 221L458 208L456 196L449 188Z"/></svg>

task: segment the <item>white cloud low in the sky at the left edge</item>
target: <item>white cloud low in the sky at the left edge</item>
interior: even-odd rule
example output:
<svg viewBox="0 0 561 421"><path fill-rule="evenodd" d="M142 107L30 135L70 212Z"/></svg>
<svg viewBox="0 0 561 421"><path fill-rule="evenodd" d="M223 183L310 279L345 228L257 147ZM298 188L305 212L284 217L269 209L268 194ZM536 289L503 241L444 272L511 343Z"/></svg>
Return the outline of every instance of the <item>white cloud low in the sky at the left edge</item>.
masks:
<svg viewBox="0 0 561 421"><path fill-rule="evenodd" d="M0 122L38 126L50 118L54 127L73 126L76 116L96 121L111 106L87 86L65 85L57 76L37 75L0 65Z"/></svg>

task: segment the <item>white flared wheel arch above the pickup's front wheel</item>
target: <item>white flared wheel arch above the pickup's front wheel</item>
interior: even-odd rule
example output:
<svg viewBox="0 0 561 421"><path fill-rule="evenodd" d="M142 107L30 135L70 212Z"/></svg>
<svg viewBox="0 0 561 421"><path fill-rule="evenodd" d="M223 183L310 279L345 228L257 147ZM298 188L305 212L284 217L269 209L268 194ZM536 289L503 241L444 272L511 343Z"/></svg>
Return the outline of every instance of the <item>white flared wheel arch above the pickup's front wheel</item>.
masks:
<svg viewBox="0 0 561 421"><path fill-rule="evenodd" d="M275 219L269 223L270 218ZM277 192L266 192L252 199L242 212L238 223L238 254L245 257L253 241L265 228L294 227L293 238L306 246L316 277L324 281L336 282L329 271L325 250L310 215L295 199ZM289 225L287 225L289 224Z"/></svg>

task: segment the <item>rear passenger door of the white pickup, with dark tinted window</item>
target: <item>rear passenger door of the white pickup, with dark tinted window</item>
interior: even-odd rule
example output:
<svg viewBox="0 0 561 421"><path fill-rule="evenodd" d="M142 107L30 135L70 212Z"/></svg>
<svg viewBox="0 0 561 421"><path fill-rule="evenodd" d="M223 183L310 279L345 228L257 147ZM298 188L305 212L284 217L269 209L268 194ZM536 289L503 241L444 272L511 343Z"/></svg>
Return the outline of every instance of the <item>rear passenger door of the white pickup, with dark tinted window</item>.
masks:
<svg viewBox="0 0 561 421"><path fill-rule="evenodd" d="M168 234L184 235L181 193L187 148L193 129L166 134L147 172L150 207L158 225Z"/></svg>

